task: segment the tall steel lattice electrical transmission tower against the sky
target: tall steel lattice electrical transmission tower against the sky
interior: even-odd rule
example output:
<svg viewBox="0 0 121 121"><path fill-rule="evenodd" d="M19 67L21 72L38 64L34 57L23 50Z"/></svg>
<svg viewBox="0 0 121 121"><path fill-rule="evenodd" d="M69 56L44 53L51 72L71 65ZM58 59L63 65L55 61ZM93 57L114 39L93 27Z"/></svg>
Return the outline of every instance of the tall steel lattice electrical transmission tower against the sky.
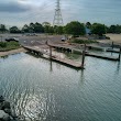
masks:
<svg viewBox="0 0 121 121"><path fill-rule="evenodd" d="M57 0L56 9L55 9L55 15L54 15L54 21L53 25L62 26L63 23L63 16L61 12L61 0Z"/></svg>

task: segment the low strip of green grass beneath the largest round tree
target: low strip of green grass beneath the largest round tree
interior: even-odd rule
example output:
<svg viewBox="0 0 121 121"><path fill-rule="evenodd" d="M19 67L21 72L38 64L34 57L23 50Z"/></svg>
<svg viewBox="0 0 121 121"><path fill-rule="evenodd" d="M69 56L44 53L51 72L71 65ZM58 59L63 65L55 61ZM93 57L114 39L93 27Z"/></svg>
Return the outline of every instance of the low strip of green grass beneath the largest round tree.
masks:
<svg viewBox="0 0 121 121"><path fill-rule="evenodd" d="M98 43L98 42L97 41L92 41L92 40L70 40L69 43L91 44L91 43Z"/></svg>

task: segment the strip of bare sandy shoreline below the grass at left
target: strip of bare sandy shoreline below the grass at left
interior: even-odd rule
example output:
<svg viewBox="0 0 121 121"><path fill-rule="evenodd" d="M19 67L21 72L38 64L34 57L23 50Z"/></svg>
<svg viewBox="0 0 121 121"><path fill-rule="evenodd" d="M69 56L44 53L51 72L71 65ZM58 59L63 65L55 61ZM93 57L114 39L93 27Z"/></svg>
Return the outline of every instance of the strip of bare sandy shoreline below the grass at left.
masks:
<svg viewBox="0 0 121 121"><path fill-rule="evenodd" d="M21 52L28 52L26 50L24 50L23 47L18 48L18 50L11 50L11 51L7 51L7 52L0 52L0 57L2 56L7 56L7 55L12 55L12 54L18 54Z"/></svg>

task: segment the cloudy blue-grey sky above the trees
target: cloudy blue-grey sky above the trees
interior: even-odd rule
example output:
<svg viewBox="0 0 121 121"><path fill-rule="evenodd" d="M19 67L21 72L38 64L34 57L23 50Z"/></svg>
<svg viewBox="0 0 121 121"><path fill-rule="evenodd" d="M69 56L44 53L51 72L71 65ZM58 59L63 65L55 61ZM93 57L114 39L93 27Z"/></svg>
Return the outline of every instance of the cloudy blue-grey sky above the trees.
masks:
<svg viewBox="0 0 121 121"><path fill-rule="evenodd" d="M53 23L56 0L0 0L0 24ZM121 0L61 0L64 24L70 21L121 24Z"/></svg>

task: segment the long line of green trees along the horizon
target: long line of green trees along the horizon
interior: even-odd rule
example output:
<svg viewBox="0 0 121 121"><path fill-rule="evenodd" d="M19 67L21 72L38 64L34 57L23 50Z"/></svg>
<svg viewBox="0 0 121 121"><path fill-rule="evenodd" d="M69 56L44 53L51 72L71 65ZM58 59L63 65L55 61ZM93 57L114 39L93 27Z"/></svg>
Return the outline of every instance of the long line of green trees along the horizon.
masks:
<svg viewBox="0 0 121 121"><path fill-rule="evenodd" d="M121 25L107 26L101 23L80 23L78 21L72 21L65 26L53 26L48 22L43 23L30 23L24 24L22 29L18 26L11 26L7 29L4 24L0 24L0 33L48 33L48 34L72 34L72 35L85 35L86 30L89 30L88 34L98 34L102 36L106 33L121 33Z"/></svg>

